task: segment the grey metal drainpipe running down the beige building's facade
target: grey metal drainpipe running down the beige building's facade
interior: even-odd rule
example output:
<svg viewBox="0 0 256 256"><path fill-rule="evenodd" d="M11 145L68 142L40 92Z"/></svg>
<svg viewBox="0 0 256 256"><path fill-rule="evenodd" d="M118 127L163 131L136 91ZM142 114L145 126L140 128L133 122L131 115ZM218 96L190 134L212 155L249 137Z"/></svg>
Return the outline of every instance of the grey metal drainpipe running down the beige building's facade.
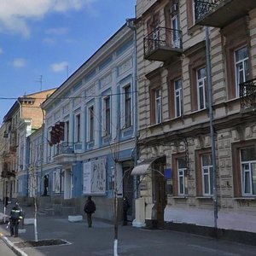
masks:
<svg viewBox="0 0 256 256"><path fill-rule="evenodd" d="M205 27L206 32L206 47L207 47L207 85L208 85L208 102L209 102L209 119L210 133L212 145L212 183L213 183L213 207L214 207L214 228L218 228L218 195L217 195L217 171L216 171L216 152L215 152L215 135L213 127L213 108L212 108L212 67L211 67L211 45L209 38L209 27Z"/></svg>

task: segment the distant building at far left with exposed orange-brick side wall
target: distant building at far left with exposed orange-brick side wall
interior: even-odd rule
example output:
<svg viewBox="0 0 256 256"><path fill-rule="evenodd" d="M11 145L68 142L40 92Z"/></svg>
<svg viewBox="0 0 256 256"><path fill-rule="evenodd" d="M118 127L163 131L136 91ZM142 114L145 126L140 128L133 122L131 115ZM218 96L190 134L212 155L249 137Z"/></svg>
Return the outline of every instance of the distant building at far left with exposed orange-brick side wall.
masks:
<svg viewBox="0 0 256 256"><path fill-rule="evenodd" d="M22 179L27 169L26 138L41 127L43 112L40 104L53 91L44 90L19 97L3 118L1 191L3 191L3 197L8 197L9 201L17 198L18 195L23 195Z"/></svg>

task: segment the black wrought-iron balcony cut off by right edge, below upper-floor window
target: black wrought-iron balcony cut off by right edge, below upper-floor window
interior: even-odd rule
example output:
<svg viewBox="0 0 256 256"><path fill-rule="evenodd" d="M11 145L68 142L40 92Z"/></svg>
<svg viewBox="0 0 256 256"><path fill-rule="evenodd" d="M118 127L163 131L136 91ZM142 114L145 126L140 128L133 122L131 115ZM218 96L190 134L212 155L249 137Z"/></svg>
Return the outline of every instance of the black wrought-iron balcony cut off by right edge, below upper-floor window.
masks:
<svg viewBox="0 0 256 256"><path fill-rule="evenodd" d="M241 108L256 107L256 79L239 84Z"/></svg>

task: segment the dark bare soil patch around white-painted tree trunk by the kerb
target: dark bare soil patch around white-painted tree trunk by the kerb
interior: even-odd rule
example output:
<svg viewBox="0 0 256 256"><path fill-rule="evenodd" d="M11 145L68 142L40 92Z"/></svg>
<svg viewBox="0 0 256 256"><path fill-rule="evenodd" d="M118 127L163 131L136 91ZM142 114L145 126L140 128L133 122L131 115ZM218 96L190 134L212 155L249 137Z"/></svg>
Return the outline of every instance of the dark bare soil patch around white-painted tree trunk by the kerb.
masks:
<svg viewBox="0 0 256 256"><path fill-rule="evenodd" d="M68 241L62 239L47 239L47 240L39 240L39 241L18 241L15 242L15 246L19 248L24 247L49 247L49 246L57 246L70 244Z"/></svg>

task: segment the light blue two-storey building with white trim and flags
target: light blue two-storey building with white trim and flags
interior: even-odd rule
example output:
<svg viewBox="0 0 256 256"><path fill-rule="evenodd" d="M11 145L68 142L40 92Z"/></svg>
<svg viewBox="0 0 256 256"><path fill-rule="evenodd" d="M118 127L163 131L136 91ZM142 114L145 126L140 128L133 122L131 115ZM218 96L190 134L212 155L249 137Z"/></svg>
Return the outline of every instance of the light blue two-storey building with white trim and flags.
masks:
<svg viewBox="0 0 256 256"><path fill-rule="evenodd" d="M43 137L51 144L44 143L41 183L56 204L82 212L92 195L96 217L112 219L116 181L117 196L132 205L135 63L134 32L125 25L43 103Z"/></svg>

